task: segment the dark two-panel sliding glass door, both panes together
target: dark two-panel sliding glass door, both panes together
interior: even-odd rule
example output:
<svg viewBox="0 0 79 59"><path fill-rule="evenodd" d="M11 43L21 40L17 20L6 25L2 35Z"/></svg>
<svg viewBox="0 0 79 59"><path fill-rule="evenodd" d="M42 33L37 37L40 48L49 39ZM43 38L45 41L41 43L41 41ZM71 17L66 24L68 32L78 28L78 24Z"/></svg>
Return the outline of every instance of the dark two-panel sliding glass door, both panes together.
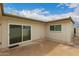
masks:
<svg viewBox="0 0 79 59"><path fill-rule="evenodd" d="M31 40L31 27L22 25L10 25L9 44Z"/></svg>

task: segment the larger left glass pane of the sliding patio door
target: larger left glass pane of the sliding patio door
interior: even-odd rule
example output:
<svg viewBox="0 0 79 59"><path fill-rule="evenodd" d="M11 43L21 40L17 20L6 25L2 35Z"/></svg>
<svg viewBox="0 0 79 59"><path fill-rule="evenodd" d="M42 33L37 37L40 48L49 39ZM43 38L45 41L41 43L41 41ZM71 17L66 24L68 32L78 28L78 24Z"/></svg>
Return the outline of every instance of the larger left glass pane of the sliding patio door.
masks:
<svg viewBox="0 0 79 59"><path fill-rule="evenodd" d="M21 25L10 25L10 44L22 41Z"/></svg>

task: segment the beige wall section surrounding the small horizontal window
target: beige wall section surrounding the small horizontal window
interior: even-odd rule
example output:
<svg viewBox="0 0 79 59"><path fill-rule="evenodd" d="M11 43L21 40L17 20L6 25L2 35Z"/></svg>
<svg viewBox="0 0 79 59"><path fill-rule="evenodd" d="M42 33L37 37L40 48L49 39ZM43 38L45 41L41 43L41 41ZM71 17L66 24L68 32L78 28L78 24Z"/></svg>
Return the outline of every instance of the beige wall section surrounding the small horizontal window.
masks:
<svg viewBox="0 0 79 59"><path fill-rule="evenodd" d="M61 25L61 31L50 31L50 25ZM74 34L73 23L70 20L47 23L47 38L70 43Z"/></svg>

